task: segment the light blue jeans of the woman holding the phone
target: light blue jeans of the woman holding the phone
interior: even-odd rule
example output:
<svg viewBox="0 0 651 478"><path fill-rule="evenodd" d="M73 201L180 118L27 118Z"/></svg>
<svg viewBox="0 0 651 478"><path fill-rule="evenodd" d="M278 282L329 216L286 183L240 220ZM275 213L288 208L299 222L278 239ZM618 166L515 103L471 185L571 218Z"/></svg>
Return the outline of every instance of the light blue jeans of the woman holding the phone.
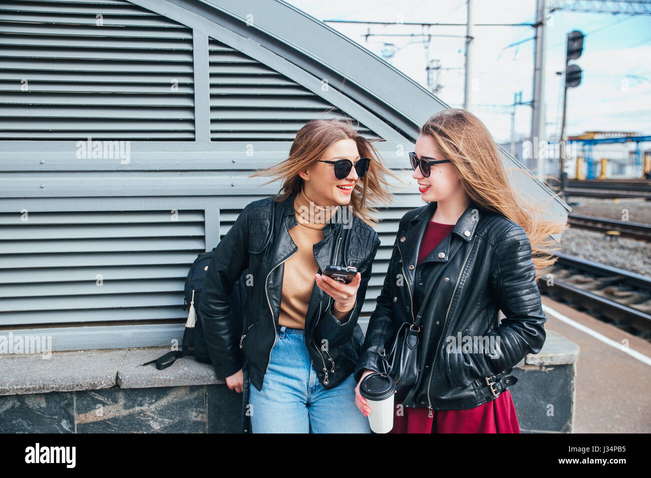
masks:
<svg viewBox="0 0 651 478"><path fill-rule="evenodd" d="M355 405L353 374L326 390L305 347L305 330L280 326L276 332L262 390L249 382L252 431L370 433L368 418Z"/></svg>

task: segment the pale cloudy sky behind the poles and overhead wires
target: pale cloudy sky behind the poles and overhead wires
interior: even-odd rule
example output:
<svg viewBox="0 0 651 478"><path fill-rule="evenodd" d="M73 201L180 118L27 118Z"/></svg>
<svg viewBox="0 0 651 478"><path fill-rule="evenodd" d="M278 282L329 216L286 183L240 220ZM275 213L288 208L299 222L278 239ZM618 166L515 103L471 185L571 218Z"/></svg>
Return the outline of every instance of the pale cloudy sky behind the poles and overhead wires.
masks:
<svg viewBox="0 0 651 478"><path fill-rule="evenodd" d="M465 0L288 0L318 20L414 21L465 23ZM535 0L475 0L475 23L533 23ZM381 57L385 43L395 46L388 61L426 86L426 58L420 38L370 36L369 25L327 23ZM651 135L651 16L613 15L558 10L547 20L545 104L547 139L561 130L562 86L557 72L565 63L565 37L572 30L585 34L583 55L570 60L583 70L581 85L568 90L567 134L584 131L632 131ZM372 34L420 34L418 25L370 25ZM437 96L450 107L464 103L464 27L432 27L428 58L441 61ZM452 36L445 36L452 35ZM534 29L475 26L473 79L469 110L490 129L498 142L510 141L514 94L531 101ZM527 40L522 42L522 40ZM410 43L411 42L411 43ZM512 46L521 42L517 46ZM531 107L516 107L516 140L528 137Z"/></svg>

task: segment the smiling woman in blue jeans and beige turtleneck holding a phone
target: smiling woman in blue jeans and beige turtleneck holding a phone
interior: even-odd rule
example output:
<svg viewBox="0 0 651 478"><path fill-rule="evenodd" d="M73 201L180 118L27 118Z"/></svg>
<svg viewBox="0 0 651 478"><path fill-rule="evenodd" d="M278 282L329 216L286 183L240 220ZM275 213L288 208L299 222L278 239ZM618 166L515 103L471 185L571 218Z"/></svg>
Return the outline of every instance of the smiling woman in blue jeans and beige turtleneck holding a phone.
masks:
<svg viewBox="0 0 651 478"><path fill-rule="evenodd" d="M280 192L243 209L208 266L199 305L208 352L217 377L249 391L255 433L369 432L354 405L357 318L380 245L374 205L391 201L384 176L396 177L372 142L345 120L303 126L286 160L253 174L282 179ZM240 331L229 295L245 271Z"/></svg>

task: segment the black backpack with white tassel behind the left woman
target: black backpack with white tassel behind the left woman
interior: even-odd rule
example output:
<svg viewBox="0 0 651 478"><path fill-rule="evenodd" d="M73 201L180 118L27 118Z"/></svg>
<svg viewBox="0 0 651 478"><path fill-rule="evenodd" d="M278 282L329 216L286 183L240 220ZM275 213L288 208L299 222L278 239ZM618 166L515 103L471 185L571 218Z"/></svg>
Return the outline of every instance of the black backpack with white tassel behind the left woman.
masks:
<svg viewBox="0 0 651 478"><path fill-rule="evenodd" d="M183 332L181 350L167 352L159 358L150 360L143 365L156 362L156 368L162 370L174 364L177 358L185 356L193 356L197 362L203 362L204 364L212 363L208 355L208 347L204 339L203 329L201 328L201 317L199 317L197 304L199 304L199 299L201 298L201 289L203 287L204 277L206 276L206 269L208 269L208 264L210 264L210 259L212 259L215 249L216 246L212 251L198 254L197 259L195 259L189 272L187 272L183 310L186 310L187 306L189 306L189 311L186 329ZM246 300L245 276L247 273L248 269L236 280L233 290L229 295L234 327L238 331L242 330L242 312L244 301ZM190 347L193 347L193 349L191 350Z"/></svg>

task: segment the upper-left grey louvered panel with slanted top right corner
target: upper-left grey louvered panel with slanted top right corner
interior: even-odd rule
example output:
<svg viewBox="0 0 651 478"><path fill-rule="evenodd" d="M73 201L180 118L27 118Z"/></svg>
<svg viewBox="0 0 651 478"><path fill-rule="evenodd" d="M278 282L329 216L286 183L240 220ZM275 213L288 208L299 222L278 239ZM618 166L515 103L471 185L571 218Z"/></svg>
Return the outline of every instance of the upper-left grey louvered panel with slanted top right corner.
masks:
<svg viewBox="0 0 651 478"><path fill-rule="evenodd" d="M0 3L0 138L194 138L191 29L128 2Z"/></svg>

